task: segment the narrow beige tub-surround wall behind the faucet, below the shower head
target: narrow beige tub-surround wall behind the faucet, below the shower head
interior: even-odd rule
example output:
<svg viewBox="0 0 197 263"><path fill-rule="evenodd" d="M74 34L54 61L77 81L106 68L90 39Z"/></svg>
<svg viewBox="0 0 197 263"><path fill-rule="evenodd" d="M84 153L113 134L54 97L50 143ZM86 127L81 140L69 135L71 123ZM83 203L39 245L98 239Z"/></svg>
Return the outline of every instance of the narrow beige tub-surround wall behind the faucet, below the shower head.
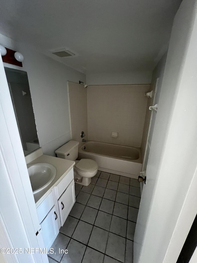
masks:
<svg viewBox="0 0 197 263"><path fill-rule="evenodd" d="M70 123L72 140L82 142L81 132L87 139L87 88L82 84L68 82Z"/></svg>

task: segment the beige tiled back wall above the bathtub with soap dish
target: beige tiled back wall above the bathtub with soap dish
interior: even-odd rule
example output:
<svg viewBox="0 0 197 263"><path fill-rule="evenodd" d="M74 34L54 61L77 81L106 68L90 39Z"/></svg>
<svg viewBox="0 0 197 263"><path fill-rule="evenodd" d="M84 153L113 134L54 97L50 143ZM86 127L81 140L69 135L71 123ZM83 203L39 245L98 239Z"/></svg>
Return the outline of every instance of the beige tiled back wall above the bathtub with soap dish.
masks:
<svg viewBox="0 0 197 263"><path fill-rule="evenodd" d="M88 140L141 147L148 90L149 84L88 86Z"/></svg>

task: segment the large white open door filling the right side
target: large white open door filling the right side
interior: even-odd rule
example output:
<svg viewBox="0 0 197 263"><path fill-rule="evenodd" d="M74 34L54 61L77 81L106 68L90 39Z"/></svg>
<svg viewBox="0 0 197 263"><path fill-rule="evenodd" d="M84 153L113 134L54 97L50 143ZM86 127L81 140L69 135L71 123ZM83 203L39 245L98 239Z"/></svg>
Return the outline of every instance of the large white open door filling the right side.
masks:
<svg viewBox="0 0 197 263"><path fill-rule="evenodd" d="M134 236L134 263L176 263L197 213L196 15L196 1L183 0L174 19Z"/></svg>

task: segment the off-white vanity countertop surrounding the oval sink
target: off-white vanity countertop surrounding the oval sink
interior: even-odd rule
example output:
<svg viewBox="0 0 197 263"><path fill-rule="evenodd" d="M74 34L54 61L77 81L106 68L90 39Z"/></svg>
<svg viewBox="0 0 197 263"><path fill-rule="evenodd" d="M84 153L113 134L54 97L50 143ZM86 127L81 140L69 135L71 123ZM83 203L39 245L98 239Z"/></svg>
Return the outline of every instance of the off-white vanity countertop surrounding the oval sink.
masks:
<svg viewBox="0 0 197 263"><path fill-rule="evenodd" d="M29 162L28 165L40 162L46 162L54 165L57 169L57 174L55 175L53 181L46 188L34 194L36 207L42 202L45 196L48 195L48 192L50 192L53 187L55 187L63 179L64 176L66 176L66 174L72 169L75 164L74 161L42 154L38 158L34 159L32 162Z"/></svg>

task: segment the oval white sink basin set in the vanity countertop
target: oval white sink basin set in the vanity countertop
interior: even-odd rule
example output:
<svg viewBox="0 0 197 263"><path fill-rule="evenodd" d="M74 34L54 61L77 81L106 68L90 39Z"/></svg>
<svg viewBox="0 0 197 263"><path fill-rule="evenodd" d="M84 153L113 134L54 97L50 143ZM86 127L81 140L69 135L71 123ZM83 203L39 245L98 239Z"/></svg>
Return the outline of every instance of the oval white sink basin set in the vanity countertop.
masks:
<svg viewBox="0 0 197 263"><path fill-rule="evenodd" d="M57 170L50 163L34 163L27 165L33 194L47 187L55 178Z"/></svg>

